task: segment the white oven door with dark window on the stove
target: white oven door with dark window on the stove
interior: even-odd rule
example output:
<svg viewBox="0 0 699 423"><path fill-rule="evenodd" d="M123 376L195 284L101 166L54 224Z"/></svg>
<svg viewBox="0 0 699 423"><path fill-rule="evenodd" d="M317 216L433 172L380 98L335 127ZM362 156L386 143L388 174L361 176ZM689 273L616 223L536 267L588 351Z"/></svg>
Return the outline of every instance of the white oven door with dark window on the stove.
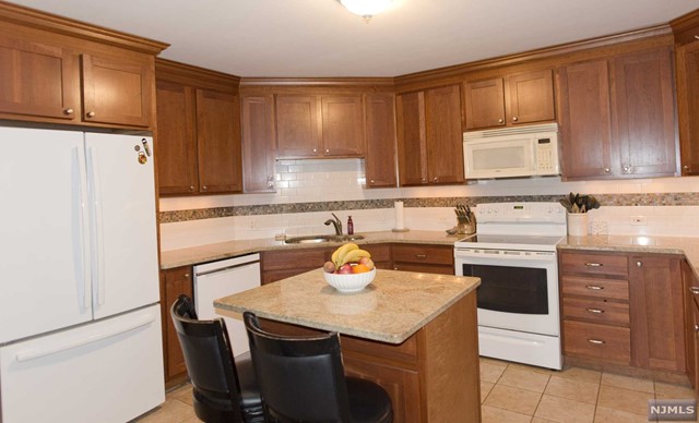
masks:
<svg viewBox="0 0 699 423"><path fill-rule="evenodd" d="M455 249L455 274L481 278L478 326L558 336L555 252Z"/></svg>

